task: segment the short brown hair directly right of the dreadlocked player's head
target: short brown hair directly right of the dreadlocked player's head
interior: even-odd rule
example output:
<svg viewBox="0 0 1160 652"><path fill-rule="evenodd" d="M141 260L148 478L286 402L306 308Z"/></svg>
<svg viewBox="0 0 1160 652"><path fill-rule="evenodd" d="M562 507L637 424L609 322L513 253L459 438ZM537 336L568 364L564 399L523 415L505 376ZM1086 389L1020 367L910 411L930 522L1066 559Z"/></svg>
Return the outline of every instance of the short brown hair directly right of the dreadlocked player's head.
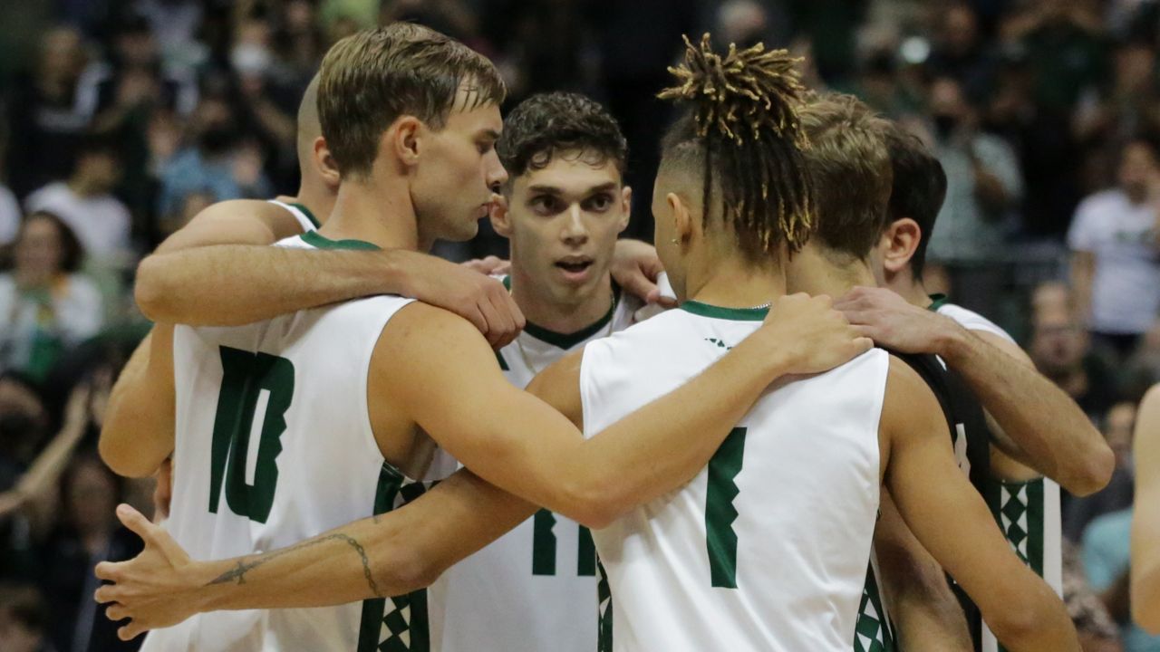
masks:
<svg viewBox="0 0 1160 652"><path fill-rule="evenodd" d="M842 262L865 259L886 225L890 125L857 97L839 93L811 99L799 115L817 188L815 241Z"/></svg>

